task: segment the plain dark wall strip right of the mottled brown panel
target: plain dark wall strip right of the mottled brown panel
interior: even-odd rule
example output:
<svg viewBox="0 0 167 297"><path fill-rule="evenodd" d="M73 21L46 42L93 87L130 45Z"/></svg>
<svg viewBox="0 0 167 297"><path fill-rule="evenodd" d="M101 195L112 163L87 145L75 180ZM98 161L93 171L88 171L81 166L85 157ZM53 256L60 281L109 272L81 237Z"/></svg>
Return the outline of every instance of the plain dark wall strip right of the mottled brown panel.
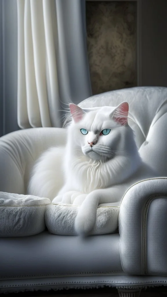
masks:
<svg viewBox="0 0 167 297"><path fill-rule="evenodd" d="M167 87L167 1L138 1L138 86Z"/></svg>

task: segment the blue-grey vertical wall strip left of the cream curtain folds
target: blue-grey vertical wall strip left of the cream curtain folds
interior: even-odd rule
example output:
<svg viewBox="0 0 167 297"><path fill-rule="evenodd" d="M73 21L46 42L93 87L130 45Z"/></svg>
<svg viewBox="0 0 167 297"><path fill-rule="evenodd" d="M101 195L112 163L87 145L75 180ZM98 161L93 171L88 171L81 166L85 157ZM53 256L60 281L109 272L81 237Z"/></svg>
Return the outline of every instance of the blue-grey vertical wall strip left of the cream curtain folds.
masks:
<svg viewBox="0 0 167 297"><path fill-rule="evenodd" d="M0 3L1 136L19 128L17 124L17 1L0 0Z"/></svg>

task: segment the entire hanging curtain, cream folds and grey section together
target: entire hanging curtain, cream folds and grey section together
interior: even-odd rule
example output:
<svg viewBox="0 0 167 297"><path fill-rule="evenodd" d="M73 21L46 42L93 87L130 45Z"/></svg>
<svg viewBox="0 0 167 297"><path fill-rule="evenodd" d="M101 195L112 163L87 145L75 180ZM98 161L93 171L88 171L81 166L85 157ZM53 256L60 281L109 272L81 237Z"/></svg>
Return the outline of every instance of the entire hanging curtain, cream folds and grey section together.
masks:
<svg viewBox="0 0 167 297"><path fill-rule="evenodd" d="M91 96L85 0L17 0L18 125L61 127L63 103Z"/></svg>

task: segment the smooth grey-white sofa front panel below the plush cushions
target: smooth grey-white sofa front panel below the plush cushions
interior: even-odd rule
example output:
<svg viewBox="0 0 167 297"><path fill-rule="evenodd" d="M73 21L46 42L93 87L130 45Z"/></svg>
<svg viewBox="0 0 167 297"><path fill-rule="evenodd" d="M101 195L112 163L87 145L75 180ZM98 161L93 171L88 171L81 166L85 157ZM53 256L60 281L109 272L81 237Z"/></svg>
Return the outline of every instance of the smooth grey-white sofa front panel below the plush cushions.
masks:
<svg viewBox="0 0 167 297"><path fill-rule="evenodd" d="M0 279L122 274L119 234L1 238Z"/></svg>

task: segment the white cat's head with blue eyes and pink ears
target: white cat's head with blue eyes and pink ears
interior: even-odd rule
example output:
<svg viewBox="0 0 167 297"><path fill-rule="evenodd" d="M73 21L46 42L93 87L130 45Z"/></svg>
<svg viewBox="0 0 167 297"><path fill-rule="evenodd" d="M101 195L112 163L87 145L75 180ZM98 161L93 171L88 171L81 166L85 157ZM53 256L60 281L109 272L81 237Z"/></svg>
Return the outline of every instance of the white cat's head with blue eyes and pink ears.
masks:
<svg viewBox="0 0 167 297"><path fill-rule="evenodd" d="M118 154L131 154L133 131L127 122L129 105L80 108L70 104L70 138L73 151L106 162Z"/></svg>

